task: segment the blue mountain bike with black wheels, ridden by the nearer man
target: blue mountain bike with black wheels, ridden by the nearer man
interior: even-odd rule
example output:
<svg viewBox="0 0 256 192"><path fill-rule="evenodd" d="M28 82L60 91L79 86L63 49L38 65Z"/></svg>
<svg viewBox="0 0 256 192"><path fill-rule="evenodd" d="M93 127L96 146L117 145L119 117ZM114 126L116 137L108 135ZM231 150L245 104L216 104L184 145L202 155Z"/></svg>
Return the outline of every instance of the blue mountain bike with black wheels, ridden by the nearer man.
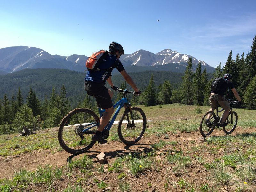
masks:
<svg viewBox="0 0 256 192"><path fill-rule="evenodd" d="M117 124L117 134L124 144L132 145L137 143L145 132L146 115L141 108L132 107L128 102L127 96L133 94L133 91L128 89L118 89L118 91L123 94L123 98L114 104L114 108L117 109L102 131L102 137L108 138L110 128L121 108L124 107L124 113ZM97 105L101 117L105 110L101 109L98 103ZM58 131L60 146L72 154L84 153L92 148L96 141L91 137L99 126L100 117L89 108L76 108L70 111L60 122Z"/></svg>

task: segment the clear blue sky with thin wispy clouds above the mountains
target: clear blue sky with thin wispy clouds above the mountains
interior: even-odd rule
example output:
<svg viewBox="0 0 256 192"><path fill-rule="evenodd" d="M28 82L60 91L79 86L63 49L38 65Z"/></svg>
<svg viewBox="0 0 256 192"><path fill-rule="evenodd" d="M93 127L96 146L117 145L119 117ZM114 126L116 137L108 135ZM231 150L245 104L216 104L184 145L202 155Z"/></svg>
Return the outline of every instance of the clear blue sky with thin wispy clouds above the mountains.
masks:
<svg viewBox="0 0 256 192"><path fill-rule="evenodd" d="M112 41L125 53L171 49L212 67L250 52L255 0L1 1L0 48L90 56ZM159 21L157 21L159 20Z"/></svg>

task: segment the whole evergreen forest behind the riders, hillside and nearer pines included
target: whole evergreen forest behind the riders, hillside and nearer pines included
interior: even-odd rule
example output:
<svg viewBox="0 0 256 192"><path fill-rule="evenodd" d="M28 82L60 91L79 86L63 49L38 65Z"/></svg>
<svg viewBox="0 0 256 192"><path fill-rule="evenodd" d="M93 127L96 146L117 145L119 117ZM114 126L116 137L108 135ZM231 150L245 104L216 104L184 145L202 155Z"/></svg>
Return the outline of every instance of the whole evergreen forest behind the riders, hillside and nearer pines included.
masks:
<svg viewBox="0 0 256 192"><path fill-rule="evenodd" d="M235 58L233 60L232 58ZM256 35L250 52L230 51L226 63L220 63L214 73L202 70L201 63L193 69L189 58L184 73L170 71L129 72L140 97L133 97L133 105L209 105L209 93L214 78L225 73L233 76L232 83L242 99L242 108L256 109ZM85 72L64 69L24 69L0 75L0 134L21 132L23 127L31 130L56 127L61 119L77 107L92 108L95 100L84 91ZM119 88L131 89L120 74L113 73L112 80ZM109 87L108 85L106 85ZM234 99L228 91L227 99ZM113 102L120 99L114 92Z"/></svg>

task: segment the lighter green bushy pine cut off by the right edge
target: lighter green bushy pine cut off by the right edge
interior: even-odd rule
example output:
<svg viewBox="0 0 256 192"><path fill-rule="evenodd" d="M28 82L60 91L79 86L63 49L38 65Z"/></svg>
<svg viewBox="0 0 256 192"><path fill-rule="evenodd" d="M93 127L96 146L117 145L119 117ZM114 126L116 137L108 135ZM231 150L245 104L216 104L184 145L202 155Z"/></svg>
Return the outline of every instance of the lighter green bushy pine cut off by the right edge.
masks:
<svg viewBox="0 0 256 192"><path fill-rule="evenodd" d="M248 109L256 109L256 75L246 87L244 92L244 102Z"/></svg>

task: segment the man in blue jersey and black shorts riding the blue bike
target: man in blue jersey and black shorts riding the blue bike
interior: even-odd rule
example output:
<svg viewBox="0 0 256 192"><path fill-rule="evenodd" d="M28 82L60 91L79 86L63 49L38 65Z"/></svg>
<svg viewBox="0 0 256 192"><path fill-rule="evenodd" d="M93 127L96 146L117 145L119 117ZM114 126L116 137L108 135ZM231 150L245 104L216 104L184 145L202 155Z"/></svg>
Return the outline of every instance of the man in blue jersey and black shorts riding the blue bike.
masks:
<svg viewBox="0 0 256 192"><path fill-rule="evenodd" d="M134 95L141 94L141 91L137 88L132 78L124 70L124 66L119 60L122 54L124 54L123 47L120 44L113 41L109 45L109 52L107 58L103 60L100 66L98 67L100 70L88 70L86 74L84 84L85 91L87 91L88 95L93 95L99 103L100 107L102 109L105 109L105 113L100 118L99 127L96 133L92 135L93 141L99 141L100 143L107 142L107 140L105 140L102 137L101 133L104 127L108 124L112 114L114 113L114 107L111 100L113 92L107 87L105 87L105 84L107 81L113 90L116 91L118 89L117 86L114 86L111 79L111 72L114 68L116 68L121 73L125 81L134 89Z"/></svg>

